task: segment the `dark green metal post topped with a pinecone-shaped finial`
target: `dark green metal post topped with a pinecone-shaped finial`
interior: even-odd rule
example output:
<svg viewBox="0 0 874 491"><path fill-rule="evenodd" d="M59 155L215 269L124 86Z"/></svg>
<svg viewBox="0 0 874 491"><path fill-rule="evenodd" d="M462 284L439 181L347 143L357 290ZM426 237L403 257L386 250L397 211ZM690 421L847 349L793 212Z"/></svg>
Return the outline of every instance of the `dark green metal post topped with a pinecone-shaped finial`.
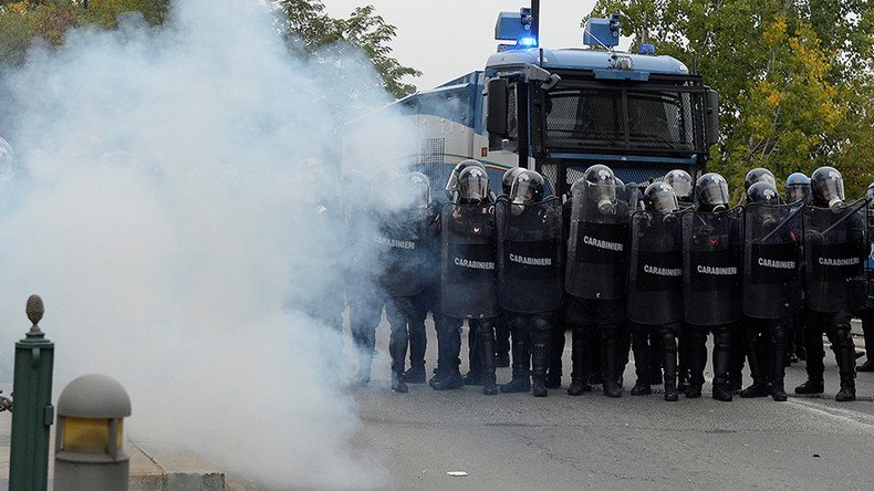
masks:
<svg viewBox="0 0 874 491"><path fill-rule="evenodd" d="M9 489L44 490L49 483L49 429L54 420L52 366L54 344L40 331L42 299L31 295L27 306L33 326L15 343L14 410L10 445Z"/></svg>

